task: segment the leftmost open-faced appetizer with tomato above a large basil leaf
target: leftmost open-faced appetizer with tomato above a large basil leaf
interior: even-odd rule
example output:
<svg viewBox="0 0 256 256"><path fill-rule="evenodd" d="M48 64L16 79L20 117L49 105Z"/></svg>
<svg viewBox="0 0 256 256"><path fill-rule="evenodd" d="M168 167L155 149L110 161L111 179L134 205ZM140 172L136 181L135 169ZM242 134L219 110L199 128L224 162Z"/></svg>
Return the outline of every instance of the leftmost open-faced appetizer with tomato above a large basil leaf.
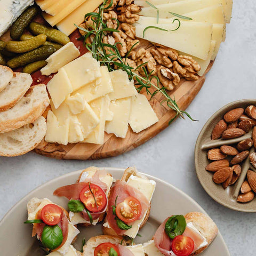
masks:
<svg viewBox="0 0 256 256"><path fill-rule="evenodd" d="M65 209L49 199L34 197L28 202L27 210L28 220L25 223L33 223L32 236L37 235L47 251L58 252L61 255L79 255L70 247L79 230L71 224ZM74 253L68 254L69 251Z"/></svg>

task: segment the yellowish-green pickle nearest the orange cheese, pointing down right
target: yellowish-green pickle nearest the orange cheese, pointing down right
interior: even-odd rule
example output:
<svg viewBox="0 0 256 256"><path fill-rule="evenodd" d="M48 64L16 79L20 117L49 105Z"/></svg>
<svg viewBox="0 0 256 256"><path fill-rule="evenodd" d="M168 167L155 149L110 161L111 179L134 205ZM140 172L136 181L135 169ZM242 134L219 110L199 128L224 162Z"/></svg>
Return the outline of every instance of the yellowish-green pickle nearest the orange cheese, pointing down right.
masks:
<svg viewBox="0 0 256 256"><path fill-rule="evenodd" d="M61 31L54 28L46 27L37 22L31 22L29 25L29 29L35 35L44 34L47 36L47 39L49 39L50 41L53 41L62 45L65 45L68 42L70 42L69 37L66 36L64 33L62 33Z"/></svg>

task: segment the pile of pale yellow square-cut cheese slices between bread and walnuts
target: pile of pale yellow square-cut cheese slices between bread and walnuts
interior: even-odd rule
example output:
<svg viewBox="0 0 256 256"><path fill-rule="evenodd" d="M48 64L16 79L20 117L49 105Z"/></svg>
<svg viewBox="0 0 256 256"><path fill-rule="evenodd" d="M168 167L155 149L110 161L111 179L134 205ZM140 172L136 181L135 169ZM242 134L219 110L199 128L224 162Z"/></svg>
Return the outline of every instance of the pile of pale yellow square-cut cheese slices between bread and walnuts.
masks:
<svg viewBox="0 0 256 256"><path fill-rule="evenodd" d="M101 145L105 131L125 138L129 124L138 133L158 121L146 96L137 92L125 71L109 72L91 53L77 55L75 45L68 43L52 54L41 70L49 74L58 67L47 84L51 110L45 141ZM67 59L74 60L67 63Z"/></svg>

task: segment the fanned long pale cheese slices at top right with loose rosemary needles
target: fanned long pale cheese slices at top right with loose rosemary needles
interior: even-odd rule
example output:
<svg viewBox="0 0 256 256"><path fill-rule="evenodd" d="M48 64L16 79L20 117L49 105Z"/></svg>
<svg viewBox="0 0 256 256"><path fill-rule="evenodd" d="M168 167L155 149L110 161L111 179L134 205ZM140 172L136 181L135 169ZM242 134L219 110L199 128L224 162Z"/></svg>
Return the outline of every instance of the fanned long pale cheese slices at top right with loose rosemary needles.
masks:
<svg viewBox="0 0 256 256"><path fill-rule="evenodd" d="M136 36L171 47L178 50L181 55L193 57L201 66L198 75L203 75L210 61L217 56L221 42L225 41L226 23L230 22L232 0L151 0L148 2L156 9L145 0L134 1L135 4L142 6L139 13L140 19L134 25ZM157 12L159 13L158 21ZM178 18L172 13L192 20ZM145 31L150 26L164 30L151 28ZM145 31L144 36L143 31Z"/></svg>

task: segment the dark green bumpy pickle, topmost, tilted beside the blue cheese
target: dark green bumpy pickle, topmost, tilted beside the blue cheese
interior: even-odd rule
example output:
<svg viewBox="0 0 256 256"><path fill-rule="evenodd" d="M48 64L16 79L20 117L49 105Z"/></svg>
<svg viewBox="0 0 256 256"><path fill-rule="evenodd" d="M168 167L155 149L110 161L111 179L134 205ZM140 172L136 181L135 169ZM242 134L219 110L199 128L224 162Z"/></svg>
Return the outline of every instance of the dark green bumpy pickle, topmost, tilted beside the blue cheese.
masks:
<svg viewBox="0 0 256 256"><path fill-rule="evenodd" d="M36 5L28 7L20 17L13 23L11 28L11 38L18 40L25 28L29 25L29 23L34 19L36 14L38 13L38 7Z"/></svg>

